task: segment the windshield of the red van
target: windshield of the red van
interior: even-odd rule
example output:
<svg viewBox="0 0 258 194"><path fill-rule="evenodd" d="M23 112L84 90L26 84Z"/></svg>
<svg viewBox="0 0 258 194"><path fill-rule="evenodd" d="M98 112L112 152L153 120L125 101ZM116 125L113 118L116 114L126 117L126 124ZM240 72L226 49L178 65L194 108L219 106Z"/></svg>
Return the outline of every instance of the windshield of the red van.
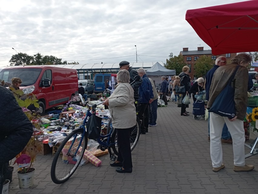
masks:
<svg viewBox="0 0 258 194"><path fill-rule="evenodd" d="M13 77L21 78L21 86L31 86L37 81L42 69L38 68L15 68L3 69L0 72L0 79L12 84Z"/></svg>

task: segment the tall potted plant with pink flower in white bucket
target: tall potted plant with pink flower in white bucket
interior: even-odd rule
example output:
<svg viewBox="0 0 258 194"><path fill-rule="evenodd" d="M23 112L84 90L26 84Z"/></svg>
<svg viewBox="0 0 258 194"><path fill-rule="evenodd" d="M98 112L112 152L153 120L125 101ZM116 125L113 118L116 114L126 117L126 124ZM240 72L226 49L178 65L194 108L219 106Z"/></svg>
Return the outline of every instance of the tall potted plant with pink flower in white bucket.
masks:
<svg viewBox="0 0 258 194"><path fill-rule="evenodd" d="M12 88L11 88L12 90ZM36 160L36 155L41 151L41 143L38 142L37 136L41 135L40 131L40 116L36 112L28 110L28 106L33 104L35 107L39 107L37 99L34 94L24 94L22 90L12 90L19 106L23 109L24 113L31 121L33 125L34 133L31 139L28 141L26 147L16 156L15 163L18 164L18 180L19 187L21 189L28 188L33 185L35 168L32 164ZM21 100L21 97L23 100Z"/></svg>

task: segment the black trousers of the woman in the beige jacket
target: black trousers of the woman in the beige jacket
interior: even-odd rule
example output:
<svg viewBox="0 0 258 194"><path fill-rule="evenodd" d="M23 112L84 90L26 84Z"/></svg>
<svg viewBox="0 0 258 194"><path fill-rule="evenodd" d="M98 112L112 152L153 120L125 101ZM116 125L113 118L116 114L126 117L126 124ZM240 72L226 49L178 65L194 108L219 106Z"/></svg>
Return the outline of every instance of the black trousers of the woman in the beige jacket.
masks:
<svg viewBox="0 0 258 194"><path fill-rule="evenodd" d="M117 161L123 163L123 168L132 168L132 155L130 145L131 128L116 129L117 131L117 143L118 143L118 156Z"/></svg>

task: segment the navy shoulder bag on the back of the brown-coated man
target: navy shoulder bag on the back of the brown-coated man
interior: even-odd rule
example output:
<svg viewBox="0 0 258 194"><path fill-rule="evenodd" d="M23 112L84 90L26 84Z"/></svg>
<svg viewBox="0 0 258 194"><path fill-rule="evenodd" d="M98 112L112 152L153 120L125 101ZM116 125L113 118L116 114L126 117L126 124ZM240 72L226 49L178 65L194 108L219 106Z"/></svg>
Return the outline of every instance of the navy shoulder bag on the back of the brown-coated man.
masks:
<svg viewBox="0 0 258 194"><path fill-rule="evenodd" d="M230 119L236 116L234 93L235 89L230 86L239 65L237 65L235 72L230 77L226 87L220 92L220 94L214 100L209 112L216 113L221 117L228 117Z"/></svg>

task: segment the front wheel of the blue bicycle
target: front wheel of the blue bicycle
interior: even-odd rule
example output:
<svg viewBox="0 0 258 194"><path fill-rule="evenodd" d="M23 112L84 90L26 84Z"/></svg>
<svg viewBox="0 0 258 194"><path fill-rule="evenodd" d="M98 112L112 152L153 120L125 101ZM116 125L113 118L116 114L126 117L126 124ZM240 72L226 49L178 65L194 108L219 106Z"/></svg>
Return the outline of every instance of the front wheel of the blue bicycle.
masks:
<svg viewBox="0 0 258 194"><path fill-rule="evenodd" d="M72 131L59 146L51 166L51 179L56 184L61 184L67 181L78 168L83 158L84 151L87 147L88 138L85 136L80 144L83 128L78 128ZM72 140L76 138L73 145ZM77 153L76 150L79 147ZM68 150L70 151L68 152Z"/></svg>

